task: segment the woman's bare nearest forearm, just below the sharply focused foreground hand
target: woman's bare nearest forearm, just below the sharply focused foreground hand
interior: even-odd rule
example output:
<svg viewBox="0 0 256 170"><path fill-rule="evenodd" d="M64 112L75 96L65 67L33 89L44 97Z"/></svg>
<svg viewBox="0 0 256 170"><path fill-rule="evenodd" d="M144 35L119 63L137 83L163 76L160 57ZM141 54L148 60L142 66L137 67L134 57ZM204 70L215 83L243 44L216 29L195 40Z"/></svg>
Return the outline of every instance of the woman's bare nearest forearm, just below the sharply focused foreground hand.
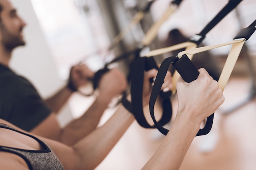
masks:
<svg viewBox="0 0 256 170"><path fill-rule="evenodd" d="M200 124L177 114L170 131L143 170L179 170L199 129Z"/></svg>

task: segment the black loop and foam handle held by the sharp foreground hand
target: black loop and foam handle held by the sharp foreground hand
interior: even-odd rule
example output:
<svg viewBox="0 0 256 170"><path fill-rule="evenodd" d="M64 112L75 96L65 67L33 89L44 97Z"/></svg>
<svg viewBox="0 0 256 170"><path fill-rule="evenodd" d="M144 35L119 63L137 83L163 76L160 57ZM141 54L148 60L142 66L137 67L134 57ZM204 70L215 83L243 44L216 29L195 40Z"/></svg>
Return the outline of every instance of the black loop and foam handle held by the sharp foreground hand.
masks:
<svg viewBox="0 0 256 170"><path fill-rule="evenodd" d="M164 83L164 77L166 76L166 73L168 71L170 64L173 64L173 66L180 73L184 81L188 83L190 83L191 81L194 81L199 75L198 70L195 68L191 60L186 56L186 54L184 54L180 59L178 57L168 57L164 59L164 61L160 65L156 79L155 79L155 83L153 85L153 89L150 95L149 111L150 111L150 116L153 122L155 123L155 126L157 126L157 129L164 135L167 135L169 130L165 129L161 124L159 124L155 120L154 105L155 105L157 96L159 95L162 84ZM214 113L207 118L207 122L204 128L200 129L196 136L206 135L207 133L210 132L212 123L213 123L213 116L214 116Z"/></svg>

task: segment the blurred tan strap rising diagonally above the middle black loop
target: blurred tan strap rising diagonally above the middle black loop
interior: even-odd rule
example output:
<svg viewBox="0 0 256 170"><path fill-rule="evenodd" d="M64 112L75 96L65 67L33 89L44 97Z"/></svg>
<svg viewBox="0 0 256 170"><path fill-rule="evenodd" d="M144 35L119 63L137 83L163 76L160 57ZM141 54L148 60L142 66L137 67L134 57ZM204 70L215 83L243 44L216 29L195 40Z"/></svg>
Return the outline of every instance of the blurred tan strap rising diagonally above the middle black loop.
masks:
<svg viewBox="0 0 256 170"><path fill-rule="evenodd" d="M141 44L143 46L148 46L155 39L160 26L170 17L170 15L176 10L176 8L176 5L171 4L170 7L166 9L162 17L150 27L145 37L141 40Z"/></svg>

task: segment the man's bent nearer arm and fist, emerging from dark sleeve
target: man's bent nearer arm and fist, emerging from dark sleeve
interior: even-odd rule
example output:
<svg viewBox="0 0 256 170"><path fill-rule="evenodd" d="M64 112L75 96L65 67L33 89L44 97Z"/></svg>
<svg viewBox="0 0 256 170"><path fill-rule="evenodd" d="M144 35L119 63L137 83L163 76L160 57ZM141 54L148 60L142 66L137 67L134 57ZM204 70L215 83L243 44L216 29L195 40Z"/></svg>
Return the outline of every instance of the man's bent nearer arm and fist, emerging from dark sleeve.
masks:
<svg viewBox="0 0 256 170"><path fill-rule="evenodd" d="M113 68L101 78L98 87L99 95L80 118L73 120L61 129L56 115L51 113L46 120L30 132L67 145L75 144L96 129L112 98L124 92L126 87L127 81L124 74L117 68Z"/></svg>

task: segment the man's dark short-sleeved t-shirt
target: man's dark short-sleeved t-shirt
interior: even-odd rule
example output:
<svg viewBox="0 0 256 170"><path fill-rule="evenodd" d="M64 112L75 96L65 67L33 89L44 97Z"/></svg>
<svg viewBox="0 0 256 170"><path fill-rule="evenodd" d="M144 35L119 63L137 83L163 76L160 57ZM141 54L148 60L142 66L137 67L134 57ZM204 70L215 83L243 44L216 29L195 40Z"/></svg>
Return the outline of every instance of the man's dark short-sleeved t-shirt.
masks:
<svg viewBox="0 0 256 170"><path fill-rule="evenodd" d="M42 122L51 110L24 77L0 64L0 118L25 131Z"/></svg>

